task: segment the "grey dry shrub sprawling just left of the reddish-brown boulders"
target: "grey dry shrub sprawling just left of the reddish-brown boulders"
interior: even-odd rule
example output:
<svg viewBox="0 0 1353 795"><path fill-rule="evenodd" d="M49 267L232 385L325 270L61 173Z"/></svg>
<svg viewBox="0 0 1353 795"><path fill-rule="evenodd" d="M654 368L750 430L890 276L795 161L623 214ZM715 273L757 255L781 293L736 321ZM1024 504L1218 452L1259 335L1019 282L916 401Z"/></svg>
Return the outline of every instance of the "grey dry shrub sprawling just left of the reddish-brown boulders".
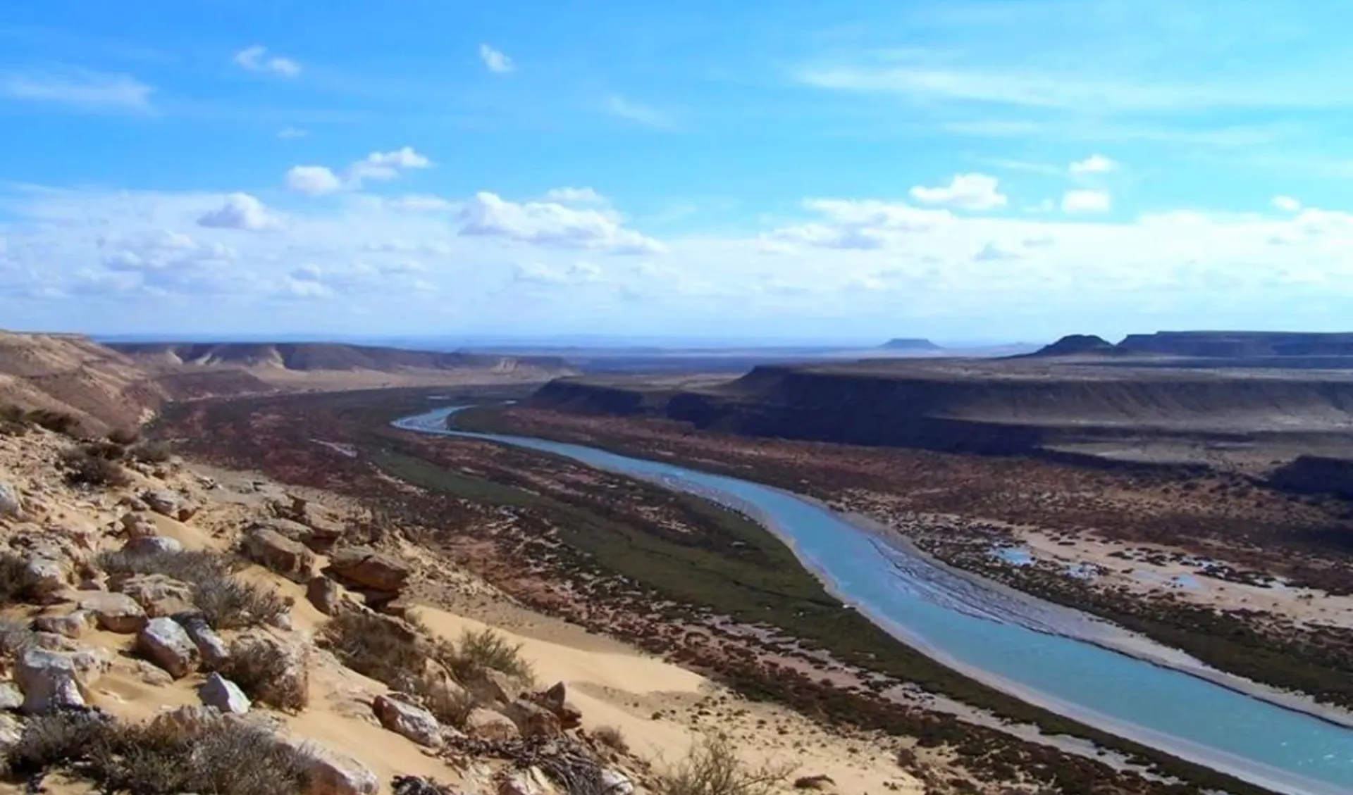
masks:
<svg viewBox="0 0 1353 795"><path fill-rule="evenodd" d="M192 602L212 629L246 629L276 623L291 608L265 585L234 576L238 561L219 552L106 552L99 567L111 577L164 575L192 588Z"/></svg>

